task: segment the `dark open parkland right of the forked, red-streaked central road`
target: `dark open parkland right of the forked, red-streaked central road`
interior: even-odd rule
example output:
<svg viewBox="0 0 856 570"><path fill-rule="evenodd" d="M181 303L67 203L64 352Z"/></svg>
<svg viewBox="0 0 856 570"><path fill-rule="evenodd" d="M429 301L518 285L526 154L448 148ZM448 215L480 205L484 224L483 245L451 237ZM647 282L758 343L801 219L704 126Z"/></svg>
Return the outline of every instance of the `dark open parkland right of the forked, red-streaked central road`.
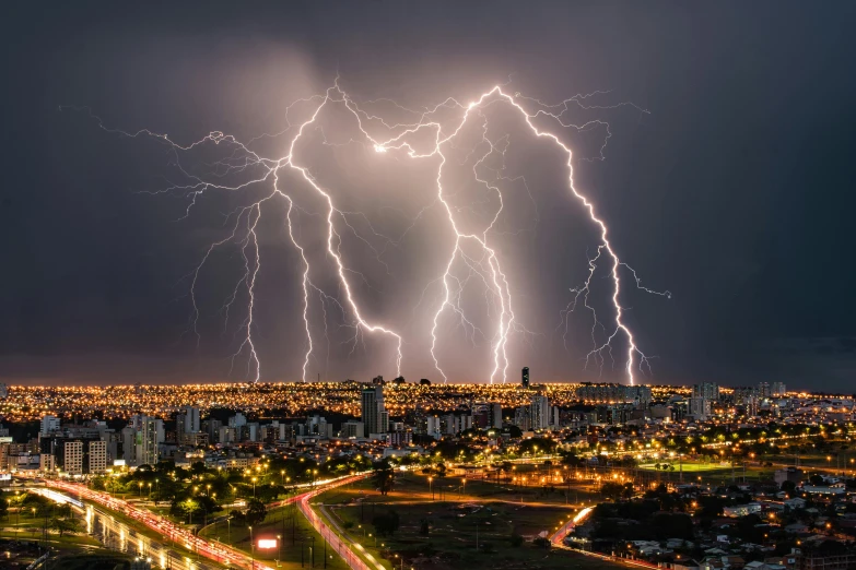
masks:
<svg viewBox="0 0 856 570"><path fill-rule="evenodd" d="M386 495L370 478L321 494L315 509L366 560L390 569L614 568L544 541L578 511L566 491L400 472Z"/></svg>

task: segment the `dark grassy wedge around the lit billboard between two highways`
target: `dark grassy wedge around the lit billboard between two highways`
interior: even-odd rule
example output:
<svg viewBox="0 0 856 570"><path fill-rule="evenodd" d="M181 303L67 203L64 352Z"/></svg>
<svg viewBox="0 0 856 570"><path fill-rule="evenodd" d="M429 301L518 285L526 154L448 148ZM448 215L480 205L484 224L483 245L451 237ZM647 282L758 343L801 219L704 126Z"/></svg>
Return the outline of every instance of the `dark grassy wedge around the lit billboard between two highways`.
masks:
<svg viewBox="0 0 856 570"><path fill-rule="evenodd" d="M219 522L204 527L200 535L210 541L216 539L226 544L231 539L234 548L246 551L248 556L251 554L249 530L246 526L228 525L225 522ZM282 549L259 550L256 548L255 556L257 560L265 560L268 562L268 566L275 567L275 560L281 551L280 568L285 570L301 568L301 557L303 557L305 568L309 568L312 560L310 547L314 544L315 567L320 568L324 565L324 539L295 507L288 506L269 511L265 522L253 527L253 538L256 544L258 544L259 538L277 538L277 535L282 536ZM337 553L330 550L329 546L327 547L327 568L328 570L348 569L344 560Z"/></svg>

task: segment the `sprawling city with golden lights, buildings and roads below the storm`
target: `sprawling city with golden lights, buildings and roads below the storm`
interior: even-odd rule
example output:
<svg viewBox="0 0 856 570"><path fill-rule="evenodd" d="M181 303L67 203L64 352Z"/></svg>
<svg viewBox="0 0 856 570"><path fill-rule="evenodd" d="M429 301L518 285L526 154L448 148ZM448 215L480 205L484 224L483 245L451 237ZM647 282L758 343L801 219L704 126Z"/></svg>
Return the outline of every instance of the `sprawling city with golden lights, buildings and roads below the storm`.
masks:
<svg viewBox="0 0 856 570"><path fill-rule="evenodd" d="M856 558L856 402L783 382L541 384L526 367L499 385L378 376L0 395L13 532L44 547L85 525L134 568L444 568L525 559L526 544L547 568ZM447 550L450 536L461 545Z"/></svg>

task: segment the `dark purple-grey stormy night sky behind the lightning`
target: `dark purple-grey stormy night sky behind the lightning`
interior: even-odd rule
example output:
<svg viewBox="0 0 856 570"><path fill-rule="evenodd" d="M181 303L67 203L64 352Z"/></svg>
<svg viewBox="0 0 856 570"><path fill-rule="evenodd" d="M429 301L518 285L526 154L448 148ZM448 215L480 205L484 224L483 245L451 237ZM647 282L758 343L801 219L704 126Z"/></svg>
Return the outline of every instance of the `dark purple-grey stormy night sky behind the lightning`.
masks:
<svg viewBox="0 0 856 570"><path fill-rule="evenodd" d="M172 153L151 139L105 132L82 109L112 128L148 128L185 144L211 131L246 140L281 130L285 107L323 93L338 72L362 102L470 100L511 78L512 93L544 102L605 91L598 105L647 109L586 116L610 123L605 161L583 159L597 156L602 132L566 133L576 185L608 223L622 261L644 285L672 293L664 299L628 286L622 297L637 344L656 356L645 381L853 391L853 2L460 4L7 9L0 381L247 378L245 354L230 371L243 307L226 324L219 311L238 278L237 248L203 273L198 346L188 334L187 275L207 244L224 237L237 199L212 194L177 222L187 201L151 193L175 181ZM325 120L312 133L314 173L377 228L400 234L429 195L429 170L407 171L386 156L382 170L378 157L345 144L350 134L335 129L335 116ZM529 366L533 382L623 381L609 363L602 375L585 368L585 312L572 316L567 349L555 332L597 235L562 186L561 156L509 124L509 167L525 174L539 212L535 230L523 205L503 222L509 234L524 229L500 244L518 317L537 333L509 342L509 379ZM324 145L324 136L344 146ZM275 139L260 144L282 154ZM320 210L308 199L302 205L308 235ZM263 309L255 337L261 379L270 381L300 379L305 343L302 268L281 210L262 223L268 264L257 289ZM412 247L390 253L391 275L360 251L345 252L367 275L357 295L368 313L404 331L403 375L436 380L426 313L413 307L442 261L433 253L447 253L448 228L434 212L412 237ZM429 293L423 309L436 301ZM329 325L329 356L326 347L314 355L310 378L395 376L388 345L367 337L350 354ZM468 345L450 325L443 341L450 380L485 381L488 345Z"/></svg>

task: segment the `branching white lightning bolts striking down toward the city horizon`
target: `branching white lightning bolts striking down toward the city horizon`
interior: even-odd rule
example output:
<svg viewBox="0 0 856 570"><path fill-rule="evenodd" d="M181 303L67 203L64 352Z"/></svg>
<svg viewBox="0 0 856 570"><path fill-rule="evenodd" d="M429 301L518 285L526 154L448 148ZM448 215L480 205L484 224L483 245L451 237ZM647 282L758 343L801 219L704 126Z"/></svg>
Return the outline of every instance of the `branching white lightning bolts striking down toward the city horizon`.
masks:
<svg viewBox="0 0 856 570"><path fill-rule="evenodd" d="M210 192L234 192L237 195L251 195L253 192L257 191L257 188L263 189L260 197L251 198L249 203L237 207L226 216L227 222L234 218L231 231L225 238L212 242L207 248L200 262L189 275L190 299L192 305L190 329L197 339L197 344L199 344L201 339L198 329L200 309L197 302L197 286L199 284L200 273L210 261L215 250L230 244L237 245L239 246L239 252L244 260L244 271L241 278L236 282L232 294L224 302L222 310L225 313L225 320L227 322L230 309L235 304L241 294L239 292L245 292L247 298L246 317L237 331L242 334L242 340L237 351L232 356L232 361L234 364L235 358L246 353L247 376L251 377L254 381L258 381L261 378L262 367L254 341L256 334L256 321L254 317L257 310L255 288L257 277L262 271L257 230L262 211L267 211L269 203L281 202L282 205L284 205L284 234L300 256L303 264L301 280L303 293L302 316L306 335L306 352L302 365L303 380L306 381L307 371L317 344L313 340L310 318L310 308L314 299L316 299L316 295L324 314L323 334L327 337L328 359L329 337L327 336L327 305L331 304L341 313L344 321L343 326L353 329L352 342L354 346L352 347L352 351L356 347L362 335L366 333L389 339L396 354L396 371L400 375L403 359L403 337L391 325L376 322L374 319L365 317L352 286L351 277L355 275L356 277L362 278L366 285L368 285L368 280L359 271L348 265L341 251L343 242L341 231L344 229L367 246L374 253L378 263L380 263L386 269L386 273L390 275L387 262L383 259L387 249L389 247L398 247L404 235L412 230L423 214L429 209L439 205L442 211L446 214L448 227L453 233L454 239L443 273L426 285L419 301L419 304L422 302L430 287L433 287L436 284L441 285L442 292L436 309L433 312L429 331L431 336L429 352L436 370L443 376L444 381L447 381L448 376L444 371L441 363L442 357L438 348L438 334L442 319L444 319L445 314L449 313L457 319L458 325L464 329L465 334L470 339L473 346L477 344L477 336L484 339L490 343L492 364L488 380L491 383L494 383L500 380L502 380L502 382L507 380L509 367L507 344L509 336L512 334L521 334L524 337L532 337L536 335L536 333L524 326L520 319L518 319L515 313L514 294L506 272L502 268L496 247L492 240L493 236L507 234L507 231L499 228L505 207L502 189L504 185L521 183L524 186L535 206L535 224L537 225L538 222L537 204L526 179L521 176L509 177L504 174L505 153L511 145L509 134L493 139L489 135L490 121L486 111L492 110L493 107L504 106L504 108L509 109L514 116L521 119L523 124L532 135L550 141L566 157L566 180L570 195L583 206L583 210L586 212L598 233L599 244L596 254L588 260L589 271L587 277L582 285L570 289L572 299L567 307L560 311L560 328L564 325L563 339L566 343L568 316L582 301L583 306L591 313L593 319L590 331L593 347L586 355L586 366L594 359L597 366L602 369L605 354L608 354L610 358L613 358L612 345L617 340L623 339L624 343L626 343L623 367L629 382L633 384L636 380L635 373L637 370L644 372L645 369L647 369L649 371L649 357L640 349L636 339L625 323L625 309L621 305L623 284L622 273L629 273L632 276L633 285L635 285L637 289L667 298L670 298L671 294L668 290L658 292L644 287L636 271L621 260L610 240L609 228L606 222L597 212L593 201L579 191L574 183L573 153L568 145L565 144L556 133L562 132L563 129L575 129L579 132L591 129L603 129L606 134L603 135L603 141L598 155L591 158L602 161L607 143L612 136L609 123L602 120L593 120L582 124L574 124L567 119L572 106L588 110L613 109L629 105L633 106L640 112L647 111L629 103L605 106L591 105L588 103L591 97L603 95L606 92L575 95L556 105L548 105L531 97L524 97L519 93L508 93L505 91L506 86L507 84L495 85L466 105L453 97L448 97L433 107L411 109L403 107L391 99L384 98L360 104L340 86L339 78L337 76L333 84L329 86L324 94L302 98L289 105L285 109L286 126L284 129L272 134L265 133L248 140L246 143L241 142L233 135L215 131L190 144L180 145L174 142L168 135L155 133L148 129L126 132L107 128L103 121L93 116L87 108L84 109L97 121L98 127L105 131L129 138L153 138L167 145L167 149L172 153L172 164L178 169L181 176L185 177L186 182L169 183L166 188L162 188L151 193L160 194L175 192L186 197L188 201L185 209L185 215L181 219L189 217L197 206L198 201ZM396 112L403 112L406 116L412 117L412 120L409 122L407 120L404 122L396 122L389 119L388 115L384 112L367 110L368 107L378 107L382 105L391 105ZM306 118L302 122L292 123L290 114L294 111L296 106L308 107L308 110L303 111L306 114ZM434 161L436 164L434 178L436 195L434 200L419 211L415 218L411 221L411 224L397 239L392 239L377 231L368 217L362 212L351 212L339 209L336 205L330 191L324 188L313 175L309 167L300 158L300 151L302 150L301 143L305 139L305 134L310 130L320 132L323 144L328 146L342 146L341 144L329 142L324 129L318 124L321 114L326 109L333 107L347 111L350 117L353 118L360 136L362 136L362 140L351 138L344 144L357 143L367 149L373 149L378 154L394 155L397 159ZM443 118L444 114L452 114L453 118ZM555 132L548 130L541 126L541 122L543 121L552 121L552 124L559 130ZM459 192L455 191L455 185L450 185L446 181L445 175L449 165L454 166L454 164L450 163L449 152L460 150L460 146L456 146L456 142L464 138L462 133L465 132L465 129L471 123L478 123L480 127L480 139L469 149L469 152L460 165L471 164L472 179L486 192L485 195L488 198L484 199L483 203L477 205L484 206L484 204L488 204L492 210L486 218L482 219L481 227L466 229L461 213L472 214L476 213L476 209L455 203L455 199L458 197ZM427 144L427 147L425 149L424 146L426 143L424 142L424 138L426 133L431 143ZM274 140L283 136L289 138L286 152L283 156L274 158L265 157L251 149L259 140ZM185 166L185 156L191 155L203 145L211 144L215 147L224 149L227 154L213 163L206 163L204 166L208 168L206 175L197 174L198 165L195 165L192 168ZM497 156L501 165L499 167L490 166L488 164L489 159L493 159ZM327 258L332 261L337 276L338 290L336 294L325 292L312 280L313 265L309 256L307 254L305 246L301 242L302 237L295 231L295 225L297 223L295 219L295 212L302 212L303 210L295 202L293 193L283 188L283 182L281 180L283 171L291 171L296 175L296 177L302 180L325 205L325 213L321 214L326 229L325 249ZM235 182L231 181L233 178L242 175L245 176L245 179ZM357 217L362 218L365 226L368 227L368 234L366 236L363 236L356 225L349 219ZM344 228L341 227L342 225ZM533 229L535 227L526 230ZM519 231L512 234L519 234ZM373 239L383 240L384 246L380 248L375 247L372 241ZM456 271L456 268L458 266L467 272L465 276L458 276ZM605 324L606 321L599 318L594 306L589 304L589 294L591 293L594 285L593 280L601 266L606 269L609 281L611 282L610 304L612 314L611 324L609 324L609 326ZM488 313L494 320L492 330L486 332L479 328L474 321L468 317L468 313L462 306L461 296L472 278L480 282L483 287ZM605 336L602 342L598 342L597 340L598 330L602 331L602 336Z"/></svg>

